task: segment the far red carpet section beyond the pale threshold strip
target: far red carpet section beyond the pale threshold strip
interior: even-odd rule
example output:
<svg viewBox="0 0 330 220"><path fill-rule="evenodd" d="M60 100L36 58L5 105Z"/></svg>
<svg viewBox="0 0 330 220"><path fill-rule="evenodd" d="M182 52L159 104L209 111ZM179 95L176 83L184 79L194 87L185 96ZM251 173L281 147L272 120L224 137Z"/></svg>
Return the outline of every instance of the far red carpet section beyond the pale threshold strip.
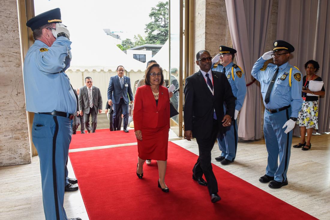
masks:
<svg viewBox="0 0 330 220"><path fill-rule="evenodd" d="M83 147L106 146L123 143L134 143L136 141L134 130L125 133L124 131L110 131L109 129L96 130L95 133L72 135L69 149Z"/></svg>

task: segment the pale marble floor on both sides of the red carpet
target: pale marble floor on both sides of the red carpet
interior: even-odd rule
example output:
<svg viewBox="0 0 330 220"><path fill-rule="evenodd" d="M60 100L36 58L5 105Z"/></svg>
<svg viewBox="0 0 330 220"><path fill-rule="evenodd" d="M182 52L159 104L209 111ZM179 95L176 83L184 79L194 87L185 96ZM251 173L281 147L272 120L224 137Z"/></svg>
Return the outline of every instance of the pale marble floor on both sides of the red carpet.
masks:
<svg viewBox="0 0 330 220"><path fill-rule="evenodd" d="M173 134L170 138L174 143L198 154L196 141L175 140L178 138ZM293 144L298 141L299 138L293 138ZM267 151L263 139L239 142L236 160L229 166L222 166L220 162L215 161L214 158L220 155L216 143L212 150L212 162L318 219L330 220L330 135L313 135L311 142L312 148L308 151L291 148L287 174L289 184L281 189L271 189L268 184L258 181L259 177L265 174L267 164ZM69 177L74 177L70 161L68 165ZM217 180L221 196L221 177L217 176ZM0 167L0 204L0 219L45 219L37 156L32 158L31 164ZM69 218L88 219L80 191L66 192L64 207Z"/></svg>

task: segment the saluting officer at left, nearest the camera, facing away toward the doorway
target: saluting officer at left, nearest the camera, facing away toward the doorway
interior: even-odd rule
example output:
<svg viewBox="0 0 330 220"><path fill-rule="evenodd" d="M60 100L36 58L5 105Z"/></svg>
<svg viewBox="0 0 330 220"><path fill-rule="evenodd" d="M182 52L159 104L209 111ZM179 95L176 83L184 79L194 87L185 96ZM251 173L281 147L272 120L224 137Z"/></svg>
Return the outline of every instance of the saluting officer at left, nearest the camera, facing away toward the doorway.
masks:
<svg viewBox="0 0 330 220"><path fill-rule="evenodd" d="M77 111L76 96L64 73L71 60L70 33L59 8L31 18L26 25L35 40L24 60L26 110L34 112L32 141L40 159L45 217L67 220L64 169Z"/></svg>

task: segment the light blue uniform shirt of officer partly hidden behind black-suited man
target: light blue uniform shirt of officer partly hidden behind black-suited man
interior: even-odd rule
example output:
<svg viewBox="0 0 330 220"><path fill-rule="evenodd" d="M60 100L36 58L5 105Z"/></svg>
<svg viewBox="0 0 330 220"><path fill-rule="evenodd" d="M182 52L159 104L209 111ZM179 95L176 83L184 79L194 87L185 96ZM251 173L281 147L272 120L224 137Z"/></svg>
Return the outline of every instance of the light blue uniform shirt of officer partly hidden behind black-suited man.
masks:
<svg viewBox="0 0 330 220"><path fill-rule="evenodd" d="M217 67L213 67L213 71L223 72L226 74L226 77L231 86L231 90L233 91L234 96L237 98L235 110L241 110L245 98L245 94L247 92L247 87L245 83L245 77L243 71L235 65L232 73L232 67L234 63L231 62L227 66L223 67L222 65L218 65ZM234 76L234 79L233 79Z"/></svg>

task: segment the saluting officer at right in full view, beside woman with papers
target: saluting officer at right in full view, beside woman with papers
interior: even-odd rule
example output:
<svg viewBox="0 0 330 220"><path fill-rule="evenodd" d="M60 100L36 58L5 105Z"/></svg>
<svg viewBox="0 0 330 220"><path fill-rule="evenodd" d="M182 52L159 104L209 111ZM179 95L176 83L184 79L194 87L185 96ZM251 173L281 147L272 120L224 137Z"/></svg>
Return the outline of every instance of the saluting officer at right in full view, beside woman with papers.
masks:
<svg viewBox="0 0 330 220"><path fill-rule="evenodd" d="M272 181L268 186L274 189L288 184L286 173L290 160L292 129L303 103L301 72L288 62L293 51L294 47L291 44L277 40L274 42L274 49L264 53L251 71L251 75L260 81L266 108L264 136L268 164L266 174L260 177L259 181ZM268 65L265 64L266 61Z"/></svg>

